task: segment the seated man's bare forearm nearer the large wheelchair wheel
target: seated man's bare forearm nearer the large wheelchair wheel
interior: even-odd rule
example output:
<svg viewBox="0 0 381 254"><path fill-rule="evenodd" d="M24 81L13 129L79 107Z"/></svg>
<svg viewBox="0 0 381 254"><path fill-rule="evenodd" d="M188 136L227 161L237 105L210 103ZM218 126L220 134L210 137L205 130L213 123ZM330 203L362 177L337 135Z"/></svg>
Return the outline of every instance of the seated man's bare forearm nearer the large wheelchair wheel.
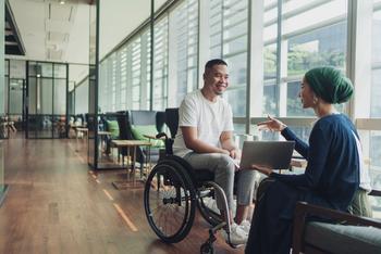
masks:
<svg viewBox="0 0 381 254"><path fill-rule="evenodd" d="M197 128L189 126L180 127L183 132L184 142L187 149L195 151L196 153L224 153L230 154L230 151L225 149L216 148L197 138Z"/></svg>

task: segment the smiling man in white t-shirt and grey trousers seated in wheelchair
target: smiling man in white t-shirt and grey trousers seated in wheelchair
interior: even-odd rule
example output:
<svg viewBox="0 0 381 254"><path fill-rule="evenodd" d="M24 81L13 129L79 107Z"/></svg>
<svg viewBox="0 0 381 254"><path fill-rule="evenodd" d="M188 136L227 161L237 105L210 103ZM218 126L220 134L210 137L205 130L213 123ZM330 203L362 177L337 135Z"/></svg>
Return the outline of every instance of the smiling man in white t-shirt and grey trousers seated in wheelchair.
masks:
<svg viewBox="0 0 381 254"><path fill-rule="evenodd" d="M179 109L179 130L173 153L197 169L214 174L214 181L225 192L231 221L232 244L246 243L250 224L246 220L253 201L254 170L239 170L235 160L241 151L233 142L233 114L229 103L221 98L229 86L228 64L214 59L207 62L204 87L189 93ZM236 215L232 214L234 175L238 174ZM224 215L224 201L216 193L217 206ZM233 218L234 217L234 218ZM223 231L226 239L226 232Z"/></svg>

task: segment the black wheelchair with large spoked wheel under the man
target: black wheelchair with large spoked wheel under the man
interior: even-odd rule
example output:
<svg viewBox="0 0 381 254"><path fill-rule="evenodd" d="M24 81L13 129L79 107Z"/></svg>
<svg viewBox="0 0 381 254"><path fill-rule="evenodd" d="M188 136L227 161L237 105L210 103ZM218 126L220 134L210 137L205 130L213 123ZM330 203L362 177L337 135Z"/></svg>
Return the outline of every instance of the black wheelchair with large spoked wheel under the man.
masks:
<svg viewBox="0 0 381 254"><path fill-rule="evenodd" d="M174 137L174 135L172 136ZM207 169L194 168L182 157L173 155L173 139L165 134L157 138L164 138L165 154L147 177L144 190L144 205L147 220L153 232L165 243L182 241L190 231L195 220L196 208L211 225L208 240L201 244L201 254L214 253L213 242L216 232L225 228L228 244L230 240L230 216L226 196L222 188L213 182L214 175ZM204 199L220 193L224 199L224 218L211 211Z"/></svg>

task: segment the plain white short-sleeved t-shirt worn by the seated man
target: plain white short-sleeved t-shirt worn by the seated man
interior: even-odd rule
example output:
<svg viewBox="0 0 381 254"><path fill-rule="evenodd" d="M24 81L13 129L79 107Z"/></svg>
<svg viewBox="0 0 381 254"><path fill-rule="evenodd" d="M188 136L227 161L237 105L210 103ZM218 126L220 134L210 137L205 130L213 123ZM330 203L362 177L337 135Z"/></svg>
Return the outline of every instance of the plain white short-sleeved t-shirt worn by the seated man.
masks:
<svg viewBox="0 0 381 254"><path fill-rule="evenodd" d="M232 109L220 97L216 102L207 100L200 90L187 94L179 109L179 129L173 143L173 153L177 156L192 152L185 145L182 126L197 127L198 139L220 148L222 131L233 131Z"/></svg>

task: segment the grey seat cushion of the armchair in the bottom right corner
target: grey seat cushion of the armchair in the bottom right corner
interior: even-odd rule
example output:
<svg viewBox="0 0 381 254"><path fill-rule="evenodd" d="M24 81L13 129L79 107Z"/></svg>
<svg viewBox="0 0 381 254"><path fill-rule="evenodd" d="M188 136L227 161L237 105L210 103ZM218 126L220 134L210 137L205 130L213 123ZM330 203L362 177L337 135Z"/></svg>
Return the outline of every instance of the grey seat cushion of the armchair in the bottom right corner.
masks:
<svg viewBox="0 0 381 254"><path fill-rule="evenodd" d="M381 229L308 223L304 240L306 243L330 253L380 253Z"/></svg>

